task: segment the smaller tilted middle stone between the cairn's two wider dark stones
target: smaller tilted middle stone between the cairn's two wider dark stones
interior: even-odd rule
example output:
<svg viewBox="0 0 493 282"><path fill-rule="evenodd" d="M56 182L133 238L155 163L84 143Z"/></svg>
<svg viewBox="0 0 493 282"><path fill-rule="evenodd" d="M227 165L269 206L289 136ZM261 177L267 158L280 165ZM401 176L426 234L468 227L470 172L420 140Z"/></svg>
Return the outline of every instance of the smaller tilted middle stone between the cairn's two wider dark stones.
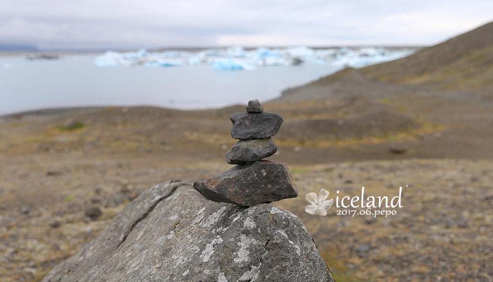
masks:
<svg viewBox="0 0 493 282"><path fill-rule="evenodd" d="M230 165L243 165L270 157L275 152L277 145L271 137L240 140L226 153L226 162Z"/></svg>

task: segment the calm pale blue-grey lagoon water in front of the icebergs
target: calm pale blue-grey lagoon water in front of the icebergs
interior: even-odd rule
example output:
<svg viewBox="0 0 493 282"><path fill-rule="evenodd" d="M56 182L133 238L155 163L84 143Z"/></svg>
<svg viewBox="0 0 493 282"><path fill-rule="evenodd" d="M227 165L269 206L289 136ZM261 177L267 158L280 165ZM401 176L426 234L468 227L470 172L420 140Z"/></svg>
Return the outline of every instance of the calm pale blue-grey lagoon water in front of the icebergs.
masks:
<svg viewBox="0 0 493 282"><path fill-rule="evenodd" d="M306 64L215 71L195 67L97 67L96 55L58 61L0 57L0 115L67 106L222 107L279 97L340 67Z"/></svg>

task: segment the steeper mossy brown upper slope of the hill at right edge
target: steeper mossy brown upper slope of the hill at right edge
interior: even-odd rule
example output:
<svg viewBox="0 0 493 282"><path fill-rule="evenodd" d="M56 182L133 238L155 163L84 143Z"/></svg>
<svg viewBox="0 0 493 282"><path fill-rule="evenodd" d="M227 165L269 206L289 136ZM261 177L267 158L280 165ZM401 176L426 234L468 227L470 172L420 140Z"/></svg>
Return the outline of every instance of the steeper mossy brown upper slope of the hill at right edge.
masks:
<svg viewBox="0 0 493 282"><path fill-rule="evenodd" d="M399 60L361 69L368 78L440 89L493 84L493 22Z"/></svg>

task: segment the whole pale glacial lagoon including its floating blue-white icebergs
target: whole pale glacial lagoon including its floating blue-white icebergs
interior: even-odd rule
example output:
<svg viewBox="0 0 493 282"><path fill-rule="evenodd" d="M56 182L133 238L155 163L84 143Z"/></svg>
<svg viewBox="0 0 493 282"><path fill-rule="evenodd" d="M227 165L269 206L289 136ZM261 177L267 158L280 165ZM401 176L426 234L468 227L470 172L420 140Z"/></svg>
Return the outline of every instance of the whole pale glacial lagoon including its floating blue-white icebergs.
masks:
<svg viewBox="0 0 493 282"><path fill-rule="evenodd" d="M362 67L412 53L384 53L376 48L365 51L370 54L342 52L341 48L312 53L310 48L298 48L292 54L285 49L218 50L61 54L58 60L0 55L0 115L56 107L203 109L245 104L251 99L265 102L279 97L282 90L344 67ZM108 54L123 59L108 63Z"/></svg>

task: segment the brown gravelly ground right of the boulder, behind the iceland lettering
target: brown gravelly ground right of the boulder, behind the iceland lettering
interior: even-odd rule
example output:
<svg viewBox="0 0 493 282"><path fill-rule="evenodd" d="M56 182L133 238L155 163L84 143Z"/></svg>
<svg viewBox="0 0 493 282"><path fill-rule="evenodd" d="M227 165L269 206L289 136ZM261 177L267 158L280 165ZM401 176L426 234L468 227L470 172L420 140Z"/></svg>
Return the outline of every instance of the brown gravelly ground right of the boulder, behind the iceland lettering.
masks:
<svg viewBox="0 0 493 282"><path fill-rule="evenodd" d="M274 205L303 220L336 280L493 281L492 161L334 163L307 167L294 177L300 196ZM403 187L403 207L373 208L372 215L336 204L326 216L302 210L309 192L326 189L335 201L361 197L362 186L365 199L390 199ZM344 210L356 214L343 215ZM395 214L373 215L383 210Z"/></svg>

